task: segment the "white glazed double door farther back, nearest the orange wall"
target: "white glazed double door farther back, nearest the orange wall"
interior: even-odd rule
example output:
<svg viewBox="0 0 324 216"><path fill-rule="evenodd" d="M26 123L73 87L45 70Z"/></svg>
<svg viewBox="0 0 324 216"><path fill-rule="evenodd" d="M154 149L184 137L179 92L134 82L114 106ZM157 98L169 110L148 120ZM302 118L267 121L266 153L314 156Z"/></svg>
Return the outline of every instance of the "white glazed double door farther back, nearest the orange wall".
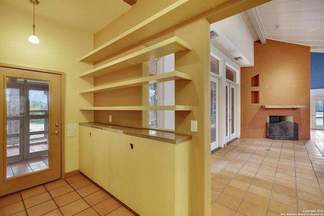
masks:
<svg viewBox="0 0 324 216"><path fill-rule="evenodd" d="M226 82L226 138L225 141L230 142L236 138L236 85Z"/></svg>

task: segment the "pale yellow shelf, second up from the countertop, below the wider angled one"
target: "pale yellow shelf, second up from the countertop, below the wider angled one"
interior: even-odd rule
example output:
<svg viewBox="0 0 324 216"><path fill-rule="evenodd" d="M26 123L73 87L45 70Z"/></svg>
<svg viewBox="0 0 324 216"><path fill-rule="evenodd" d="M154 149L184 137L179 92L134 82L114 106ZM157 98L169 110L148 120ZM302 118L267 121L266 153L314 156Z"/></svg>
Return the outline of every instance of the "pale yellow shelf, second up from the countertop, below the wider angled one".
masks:
<svg viewBox="0 0 324 216"><path fill-rule="evenodd" d="M136 86L144 85L144 84L166 82L166 81L177 80L177 79L192 80L191 75L189 75L189 74L185 74L185 73L182 73L179 71L172 71L172 72L168 72L168 73L157 74L154 76L146 76L146 77L122 81L122 82L100 85L99 87L94 87L91 89L79 91L79 93L104 92L104 91L110 91L110 90L116 90L116 89L125 89L125 88L130 88L130 87L136 87Z"/></svg>

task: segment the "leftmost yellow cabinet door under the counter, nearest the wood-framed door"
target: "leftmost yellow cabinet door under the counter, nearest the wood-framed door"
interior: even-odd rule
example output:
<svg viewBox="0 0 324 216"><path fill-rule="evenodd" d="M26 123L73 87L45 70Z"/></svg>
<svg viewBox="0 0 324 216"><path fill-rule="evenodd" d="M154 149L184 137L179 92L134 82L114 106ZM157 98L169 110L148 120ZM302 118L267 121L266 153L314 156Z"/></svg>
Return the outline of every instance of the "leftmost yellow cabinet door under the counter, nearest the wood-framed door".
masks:
<svg viewBox="0 0 324 216"><path fill-rule="evenodd" d="M80 126L79 170L109 191L109 132Z"/></svg>

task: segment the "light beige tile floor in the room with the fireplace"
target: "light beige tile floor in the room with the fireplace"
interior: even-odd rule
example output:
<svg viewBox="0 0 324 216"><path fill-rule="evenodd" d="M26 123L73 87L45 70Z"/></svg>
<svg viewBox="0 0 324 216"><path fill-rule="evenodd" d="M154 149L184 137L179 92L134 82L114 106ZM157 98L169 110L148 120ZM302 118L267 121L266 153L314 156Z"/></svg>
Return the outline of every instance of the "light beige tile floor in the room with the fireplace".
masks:
<svg viewBox="0 0 324 216"><path fill-rule="evenodd" d="M323 153L324 131L312 130L311 140L235 140L212 154L212 216L324 215Z"/></svg>

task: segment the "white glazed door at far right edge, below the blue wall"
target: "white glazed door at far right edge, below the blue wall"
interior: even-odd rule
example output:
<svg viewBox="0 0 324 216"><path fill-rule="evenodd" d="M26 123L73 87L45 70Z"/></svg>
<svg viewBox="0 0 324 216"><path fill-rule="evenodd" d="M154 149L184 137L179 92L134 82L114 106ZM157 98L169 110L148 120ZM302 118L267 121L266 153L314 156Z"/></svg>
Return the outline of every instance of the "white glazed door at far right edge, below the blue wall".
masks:
<svg viewBox="0 0 324 216"><path fill-rule="evenodd" d="M324 129L324 98L311 99L312 129Z"/></svg>

